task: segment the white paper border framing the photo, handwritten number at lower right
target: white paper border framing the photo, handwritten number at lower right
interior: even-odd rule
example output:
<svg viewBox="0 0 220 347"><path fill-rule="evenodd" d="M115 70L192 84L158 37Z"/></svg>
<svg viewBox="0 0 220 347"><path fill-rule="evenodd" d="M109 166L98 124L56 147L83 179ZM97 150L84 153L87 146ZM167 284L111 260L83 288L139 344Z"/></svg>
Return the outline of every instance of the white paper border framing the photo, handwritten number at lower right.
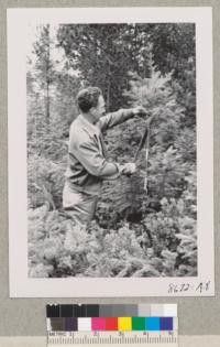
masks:
<svg viewBox="0 0 220 347"><path fill-rule="evenodd" d="M30 23L129 22L196 24L198 276L31 279L28 276L26 28ZM212 102L211 8L8 9L10 297L215 295Z"/></svg>

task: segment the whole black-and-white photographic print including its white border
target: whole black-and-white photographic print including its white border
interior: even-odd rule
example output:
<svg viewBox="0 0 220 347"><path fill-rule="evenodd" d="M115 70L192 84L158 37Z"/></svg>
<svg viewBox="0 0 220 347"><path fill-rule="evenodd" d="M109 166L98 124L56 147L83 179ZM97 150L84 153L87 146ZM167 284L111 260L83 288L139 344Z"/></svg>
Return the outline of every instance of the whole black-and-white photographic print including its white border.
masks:
<svg viewBox="0 0 220 347"><path fill-rule="evenodd" d="M155 283L155 295L213 291L210 13L201 10L199 20L187 8L135 10L78 9L56 21L48 10L41 21L40 12L33 20L36 9L22 10L22 65L12 56L9 65L9 87L15 80L21 88L18 104L9 98L9 145L22 166L9 165L9 174L23 176L15 192L12 174L10 181L18 214L10 217L12 296L19 242L23 274L35 281L30 291L20 283L23 296L44 281L51 289L42 286L40 296L68 296L77 285L76 293L88 295L89 281L89 296L99 283L105 296L107 279L117 284L114 295L146 288L150 295ZM18 66L21 79L13 75ZM21 100L19 145L13 118ZM25 228L21 239L18 226ZM69 289L58 292L68 280ZM183 283L194 284L187 292Z"/></svg>

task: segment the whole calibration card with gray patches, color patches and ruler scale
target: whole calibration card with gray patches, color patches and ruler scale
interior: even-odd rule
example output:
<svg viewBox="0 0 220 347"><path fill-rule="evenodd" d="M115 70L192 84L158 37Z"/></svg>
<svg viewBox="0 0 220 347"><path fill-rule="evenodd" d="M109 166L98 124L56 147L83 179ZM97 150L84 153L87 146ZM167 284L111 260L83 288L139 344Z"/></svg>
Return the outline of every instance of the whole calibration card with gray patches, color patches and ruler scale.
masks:
<svg viewBox="0 0 220 347"><path fill-rule="evenodd" d="M47 346L177 346L177 305L47 305Z"/></svg>

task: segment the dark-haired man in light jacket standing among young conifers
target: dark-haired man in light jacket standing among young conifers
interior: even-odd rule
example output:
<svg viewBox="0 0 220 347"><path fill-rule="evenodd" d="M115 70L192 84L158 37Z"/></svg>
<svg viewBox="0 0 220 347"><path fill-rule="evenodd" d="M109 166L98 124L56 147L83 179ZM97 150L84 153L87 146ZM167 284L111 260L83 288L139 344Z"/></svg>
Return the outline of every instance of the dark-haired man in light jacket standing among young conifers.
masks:
<svg viewBox="0 0 220 347"><path fill-rule="evenodd" d="M88 225L96 212L102 181L135 172L134 163L120 165L106 160L102 131L146 111L143 107L135 107L105 116L105 99L98 87L80 90L77 102L80 115L69 131L63 207L75 224Z"/></svg>

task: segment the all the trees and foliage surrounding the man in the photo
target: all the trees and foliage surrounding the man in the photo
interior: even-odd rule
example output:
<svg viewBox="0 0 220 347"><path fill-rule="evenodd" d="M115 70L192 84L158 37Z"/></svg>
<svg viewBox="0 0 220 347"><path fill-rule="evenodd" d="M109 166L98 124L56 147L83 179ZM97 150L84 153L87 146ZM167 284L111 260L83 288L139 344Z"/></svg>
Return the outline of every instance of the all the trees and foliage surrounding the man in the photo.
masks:
<svg viewBox="0 0 220 347"><path fill-rule="evenodd" d="M195 25L34 31L26 64L30 276L196 275ZM96 220L69 239L62 210L68 131L76 95L89 85L102 89L108 111L142 105L154 116L150 156L146 165L141 152L133 176L105 182ZM108 159L133 161L145 127L142 117L109 131Z"/></svg>

